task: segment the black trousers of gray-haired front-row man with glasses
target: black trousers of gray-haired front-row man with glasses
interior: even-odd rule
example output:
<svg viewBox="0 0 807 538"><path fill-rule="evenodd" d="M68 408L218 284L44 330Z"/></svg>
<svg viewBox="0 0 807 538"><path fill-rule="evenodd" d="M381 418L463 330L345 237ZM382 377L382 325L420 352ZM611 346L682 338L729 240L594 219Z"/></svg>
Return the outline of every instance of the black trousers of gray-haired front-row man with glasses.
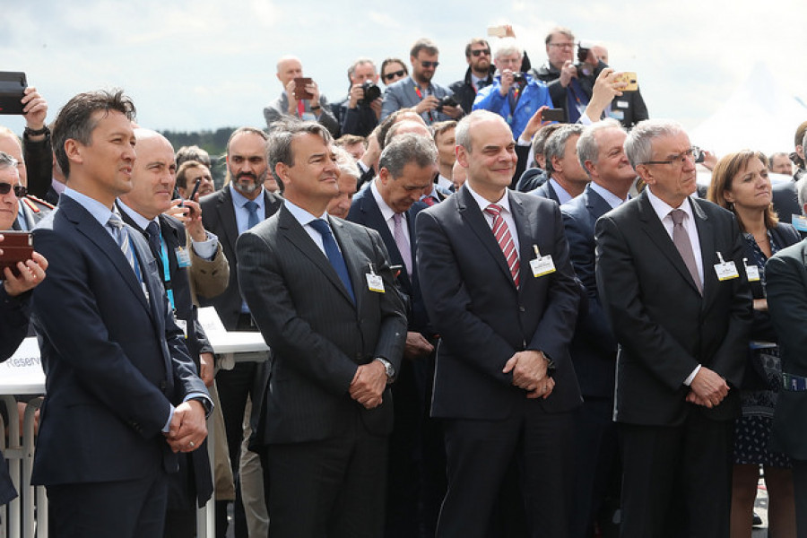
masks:
<svg viewBox="0 0 807 538"><path fill-rule="evenodd" d="M619 430L621 538L728 538L733 421L692 409L680 426Z"/></svg>

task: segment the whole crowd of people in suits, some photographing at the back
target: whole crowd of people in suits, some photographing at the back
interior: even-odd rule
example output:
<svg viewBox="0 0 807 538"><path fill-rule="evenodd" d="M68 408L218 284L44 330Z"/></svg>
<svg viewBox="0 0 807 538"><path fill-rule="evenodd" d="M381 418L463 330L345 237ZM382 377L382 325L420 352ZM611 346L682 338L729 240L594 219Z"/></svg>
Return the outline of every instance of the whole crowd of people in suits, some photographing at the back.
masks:
<svg viewBox="0 0 807 538"><path fill-rule="evenodd" d="M506 34L450 86L430 39L383 94L360 58L333 106L283 57L218 189L123 91L50 125L25 91L0 358L38 336L52 534L191 537L214 498L239 538L740 537L763 468L807 536L807 122L716 156L603 47L556 28L531 69ZM216 357L200 306L270 359Z"/></svg>

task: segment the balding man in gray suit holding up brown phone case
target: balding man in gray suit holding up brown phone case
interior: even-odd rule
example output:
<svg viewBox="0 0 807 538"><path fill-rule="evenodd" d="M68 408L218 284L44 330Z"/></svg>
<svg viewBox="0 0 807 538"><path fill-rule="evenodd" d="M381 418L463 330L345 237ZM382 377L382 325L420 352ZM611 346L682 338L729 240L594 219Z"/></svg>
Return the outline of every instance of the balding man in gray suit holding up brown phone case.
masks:
<svg viewBox="0 0 807 538"><path fill-rule="evenodd" d="M334 136L339 136L339 122L336 121L334 113L325 95L319 93L317 82L311 81L306 86L306 90L311 95L310 99L296 100L294 91L297 83L294 79L303 76L302 63L295 56L283 56L277 63L277 80L283 85L283 91L276 100L273 100L268 107L264 108L266 126L272 129L272 124L282 117L298 117L303 120L318 121Z"/></svg>

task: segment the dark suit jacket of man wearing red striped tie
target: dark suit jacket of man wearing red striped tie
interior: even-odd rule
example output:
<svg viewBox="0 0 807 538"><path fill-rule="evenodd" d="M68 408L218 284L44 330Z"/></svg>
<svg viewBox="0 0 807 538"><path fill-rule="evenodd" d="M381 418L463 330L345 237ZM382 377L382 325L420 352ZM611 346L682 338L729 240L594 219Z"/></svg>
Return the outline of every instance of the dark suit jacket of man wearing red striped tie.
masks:
<svg viewBox="0 0 807 538"><path fill-rule="evenodd" d="M508 191L516 221L521 285L510 275L499 243L467 187L418 215L418 272L429 317L442 337L432 416L503 420L534 406L569 411L580 402L568 355L577 316L577 284L557 204ZM551 255L555 273L534 278L534 246ZM527 400L505 363L541 350L556 365L547 400Z"/></svg>

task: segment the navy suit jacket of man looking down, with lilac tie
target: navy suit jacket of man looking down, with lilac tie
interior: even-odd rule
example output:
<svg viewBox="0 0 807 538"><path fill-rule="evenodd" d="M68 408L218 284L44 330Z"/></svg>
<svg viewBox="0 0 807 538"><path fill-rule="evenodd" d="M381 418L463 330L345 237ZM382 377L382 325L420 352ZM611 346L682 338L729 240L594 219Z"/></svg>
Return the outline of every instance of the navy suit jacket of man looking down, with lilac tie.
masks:
<svg viewBox="0 0 807 538"><path fill-rule="evenodd" d="M400 285L401 291L406 294L411 300L412 316L409 317L409 330L418 331L426 335L429 334L429 317L426 314L426 307L423 305L423 298L421 296L421 283L418 279L417 273L417 235L415 233L415 217L423 209L427 207L422 202L415 202L409 211L406 212L406 226L409 230L410 247L412 248L412 278L406 270L402 270L396 279ZM367 226L376 230L384 241L386 252L389 254L389 261L392 265L404 265L404 258L401 256L401 251L395 244L395 238L389 232L389 227L384 221L381 210L378 208L373 191L370 187L360 191L359 194L353 196L351 203L351 211L348 213L348 221L356 222L362 226Z"/></svg>

